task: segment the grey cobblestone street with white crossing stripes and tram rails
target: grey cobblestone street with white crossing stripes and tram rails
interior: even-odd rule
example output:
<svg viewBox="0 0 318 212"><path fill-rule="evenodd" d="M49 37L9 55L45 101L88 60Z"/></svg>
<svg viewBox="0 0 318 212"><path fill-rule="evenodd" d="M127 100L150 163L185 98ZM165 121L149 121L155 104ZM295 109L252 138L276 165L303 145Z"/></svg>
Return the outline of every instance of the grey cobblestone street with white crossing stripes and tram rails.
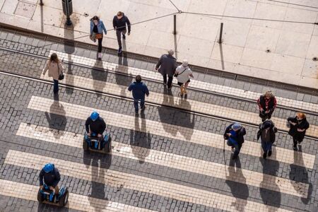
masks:
<svg viewBox="0 0 318 212"><path fill-rule="evenodd" d="M96 57L95 49L0 33L0 211L318 210L317 130L295 152L281 121L273 155L261 158L252 101L262 92L257 85L246 83L254 94L244 96L234 83L196 78L194 87L202 82L206 87L189 90L188 98L182 99L179 88L163 89L151 73L151 62L105 54L104 63L120 66L101 67L100 61L89 62ZM52 50L72 54L65 54L65 86L58 97L52 95L47 76L41 75ZM151 90L146 111L137 117L125 89L136 71L144 71ZM242 83L237 85L245 87ZM228 96L225 87L237 89L243 99ZM279 105L273 114L276 120L304 107L312 129L318 126L314 96L276 91L285 93L281 100L293 105ZM93 109L112 134L112 152L107 155L82 149L83 124ZM215 117L221 110L228 111L223 115L227 119ZM230 160L228 146L223 152L222 134L231 117L250 123L245 124L246 141L237 160ZM66 208L36 201L38 174L47 162L57 165L60 184L69 187Z"/></svg>

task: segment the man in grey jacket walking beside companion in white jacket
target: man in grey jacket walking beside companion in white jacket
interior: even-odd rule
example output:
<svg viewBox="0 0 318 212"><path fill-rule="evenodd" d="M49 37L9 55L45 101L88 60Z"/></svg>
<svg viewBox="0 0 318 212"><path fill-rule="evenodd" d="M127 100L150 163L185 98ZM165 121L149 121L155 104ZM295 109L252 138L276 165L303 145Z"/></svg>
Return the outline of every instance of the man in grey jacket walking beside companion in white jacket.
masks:
<svg viewBox="0 0 318 212"><path fill-rule="evenodd" d="M163 75L163 84L167 84L167 88L170 90L172 87L172 79L175 74L175 69L177 69L177 60L175 57L172 57L173 52L172 49L168 51L168 54L163 54L157 65L155 66L155 70L158 70L159 73ZM168 81L167 81L168 77Z"/></svg>

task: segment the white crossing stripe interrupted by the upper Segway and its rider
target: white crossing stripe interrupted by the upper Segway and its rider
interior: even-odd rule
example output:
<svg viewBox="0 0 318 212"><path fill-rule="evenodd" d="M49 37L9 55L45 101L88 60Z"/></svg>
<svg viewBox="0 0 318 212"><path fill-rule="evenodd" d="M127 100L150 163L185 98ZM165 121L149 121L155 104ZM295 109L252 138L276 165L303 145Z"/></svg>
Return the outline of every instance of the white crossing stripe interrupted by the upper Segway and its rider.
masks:
<svg viewBox="0 0 318 212"><path fill-rule="evenodd" d="M39 139L51 143L64 144L82 148L83 135L74 134L67 131L58 131L44 126L35 126L21 123L17 132L19 136L25 136L32 139ZM129 146L124 143L112 141L114 147L112 155L134 160L143 160L144 162L172 167L187 172L195 172L201 175L217 177L234 182L249 184L254 187L273 190L285 194L305 197L309 185L301 182L295 182L282 177L266 175L260 172L253 172L240 168L231 167L224 164L212 163L187 156L165 153L161 151L148 150L138 146ZM141 158L141 159L140 159ZM226 170L228 170L228 172ZM237 175L237 173L241 173Z"/></svg>

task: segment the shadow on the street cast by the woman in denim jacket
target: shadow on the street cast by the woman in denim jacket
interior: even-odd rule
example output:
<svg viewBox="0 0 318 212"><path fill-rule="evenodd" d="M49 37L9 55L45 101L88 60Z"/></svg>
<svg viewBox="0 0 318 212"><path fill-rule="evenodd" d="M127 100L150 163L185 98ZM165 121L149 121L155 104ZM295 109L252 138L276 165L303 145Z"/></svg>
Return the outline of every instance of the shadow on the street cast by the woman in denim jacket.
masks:
<svg viewBox="0 0 318 212"><path fill-rule="evenodd" d="M96 69L102 69L102 71L97 71ZM103 90L107 83L108 72L104 70L102 61L97 59L93 68L91 69L91 74L93 77L93 88L95 91ZM100 83L102 81L103 83ZM100 97L100 93L96 92L96 95Z"/></svg>

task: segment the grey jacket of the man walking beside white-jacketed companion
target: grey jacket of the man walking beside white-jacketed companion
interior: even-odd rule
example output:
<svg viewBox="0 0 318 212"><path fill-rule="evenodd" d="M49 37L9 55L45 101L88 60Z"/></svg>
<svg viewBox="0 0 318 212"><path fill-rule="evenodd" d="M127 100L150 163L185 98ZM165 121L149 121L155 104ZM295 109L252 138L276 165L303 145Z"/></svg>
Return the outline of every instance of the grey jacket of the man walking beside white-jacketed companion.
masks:
<svg viewBox="0 0 318 212"><path fill-rule="evenodd" d="M162 75L167 74L168 76L173 76L173 74L175 74L175 69L177 68L177 60L170 54L163 54L155 68L159 68L158 71Z"/></svg>

